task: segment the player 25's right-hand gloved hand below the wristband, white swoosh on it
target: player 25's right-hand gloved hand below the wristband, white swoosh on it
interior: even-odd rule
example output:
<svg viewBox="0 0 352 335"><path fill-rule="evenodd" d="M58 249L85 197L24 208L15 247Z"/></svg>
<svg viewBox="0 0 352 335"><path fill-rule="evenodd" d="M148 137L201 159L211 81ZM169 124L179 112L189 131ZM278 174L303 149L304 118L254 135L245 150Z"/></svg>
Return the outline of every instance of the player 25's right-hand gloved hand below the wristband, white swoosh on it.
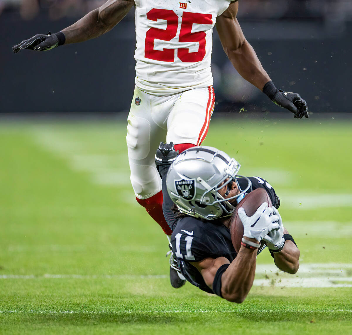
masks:
<svg viewBox="0 0 352 335"><path fill-rule="evenodd" d="M278 89L272 102L294 113L297 119L301 119L303 116L309 117L307 103L297 93L284 92L282 89Z"/></svg>

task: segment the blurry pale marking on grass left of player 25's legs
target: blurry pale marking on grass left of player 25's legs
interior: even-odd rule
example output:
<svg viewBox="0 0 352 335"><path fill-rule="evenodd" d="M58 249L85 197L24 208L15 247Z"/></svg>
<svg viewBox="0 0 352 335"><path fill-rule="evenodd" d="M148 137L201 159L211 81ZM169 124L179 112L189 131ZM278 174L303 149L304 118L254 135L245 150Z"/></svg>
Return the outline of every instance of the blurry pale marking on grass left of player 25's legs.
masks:
<svg viewBox="0 0 352 335"><path fill-rule="evenodd" d="M64 133L36 129L33 135L41 147L67 161L72 170L89 173L94 184L130 185L127 154L83 154L87 151L89 143L77 141Z"/></svg>

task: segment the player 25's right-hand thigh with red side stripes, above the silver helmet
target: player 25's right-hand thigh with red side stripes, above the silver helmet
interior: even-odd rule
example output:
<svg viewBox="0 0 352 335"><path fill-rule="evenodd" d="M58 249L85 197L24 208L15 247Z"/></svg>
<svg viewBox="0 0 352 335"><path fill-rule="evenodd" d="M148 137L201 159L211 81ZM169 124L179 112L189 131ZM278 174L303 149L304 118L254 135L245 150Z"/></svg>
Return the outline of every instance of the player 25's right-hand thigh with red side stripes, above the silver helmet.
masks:
<svg viewBox="0 0 352 335"><path fill-rule="evenodd" d="M166 142L173 142L175 150L180 152L201 145L208 133L214 105L212 86L183 92L170 113Z"/></svg>

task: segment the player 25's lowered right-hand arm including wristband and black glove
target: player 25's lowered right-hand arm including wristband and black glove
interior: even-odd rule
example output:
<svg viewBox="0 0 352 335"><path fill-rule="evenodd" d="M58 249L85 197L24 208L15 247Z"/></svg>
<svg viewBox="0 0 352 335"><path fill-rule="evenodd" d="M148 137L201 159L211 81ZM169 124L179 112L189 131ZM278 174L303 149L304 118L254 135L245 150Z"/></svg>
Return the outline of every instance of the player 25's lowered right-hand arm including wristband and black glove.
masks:
<svg viewBox="0 0 352 335"><path fill-rule="evenodd" d="M224 51L238 71L251 84L263 91L276 105L294 113L295 118L308 118L308 106L299 94L284 92L275 87L265 72L256 52L247 42L236 18L238 2L233 2L227 10L216 19L216 30Z"/></svg>

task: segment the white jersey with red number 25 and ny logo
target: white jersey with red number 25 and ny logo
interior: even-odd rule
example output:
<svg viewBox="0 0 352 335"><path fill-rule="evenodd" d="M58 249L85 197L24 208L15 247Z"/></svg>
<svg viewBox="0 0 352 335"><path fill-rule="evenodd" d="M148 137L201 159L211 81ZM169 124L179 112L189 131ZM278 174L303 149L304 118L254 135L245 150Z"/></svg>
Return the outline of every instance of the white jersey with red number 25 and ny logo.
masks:
<svg viewBox="0 0 352 335"><path fill-rule="evenodd" d="M136 86L142 91L163 95L213 85L213 27L231 0L181 1L134 1Z"/></svg>

